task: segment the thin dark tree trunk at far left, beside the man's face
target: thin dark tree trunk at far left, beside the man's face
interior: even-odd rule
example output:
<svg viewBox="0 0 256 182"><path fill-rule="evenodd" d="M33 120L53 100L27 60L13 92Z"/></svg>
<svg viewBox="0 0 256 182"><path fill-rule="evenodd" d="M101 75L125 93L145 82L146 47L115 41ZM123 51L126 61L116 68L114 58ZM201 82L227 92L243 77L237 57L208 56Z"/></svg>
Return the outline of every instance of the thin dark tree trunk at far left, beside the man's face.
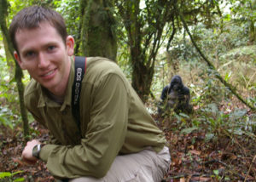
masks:
<svg viewBox="0 0 256 182"><path fill-rule="evenodd" d="M7 43L8 43L8 48L9 52L13 53L14 48L11 45L10 38L9 38L9 33L8 29L6 26L6 17L8 15L8 10L9 9L9 3L7 0L0 0L0 26L1 26L1 31L3 33L3 37L6 38ZM13 54L11 54L13 57L13 60L15 60L15 57ZM20 69L20 65L15 61L15 81L17 83L17 88L18 88L18 93L19 93L19 99L20 99L20 113L23 121L23 134L26 139L26 137L29 134L29 126L28 126L28 119L27 119L27 113L26 113L26 107L24 105L24 85L22 83L22 77L23 77L23 72Z"/></svg>

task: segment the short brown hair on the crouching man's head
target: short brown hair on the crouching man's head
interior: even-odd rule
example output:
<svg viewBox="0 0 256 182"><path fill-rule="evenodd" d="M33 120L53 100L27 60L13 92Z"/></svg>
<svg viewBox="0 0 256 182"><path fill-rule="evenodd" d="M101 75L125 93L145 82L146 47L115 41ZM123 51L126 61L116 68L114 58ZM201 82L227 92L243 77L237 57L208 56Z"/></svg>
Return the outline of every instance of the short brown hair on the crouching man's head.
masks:
<svg viewBox="0 0 256 182"><path fill-rule="evenodd" d="M15 15L11 25L9 26L9 36L17 52L18 48L15 41L16 32L21 29L37 28L42 22L49 22L51 26L55 27L63 42L66 43L67 28L61 14L52 9L40 6L31 6L20 10L20 12Z"/></svg>

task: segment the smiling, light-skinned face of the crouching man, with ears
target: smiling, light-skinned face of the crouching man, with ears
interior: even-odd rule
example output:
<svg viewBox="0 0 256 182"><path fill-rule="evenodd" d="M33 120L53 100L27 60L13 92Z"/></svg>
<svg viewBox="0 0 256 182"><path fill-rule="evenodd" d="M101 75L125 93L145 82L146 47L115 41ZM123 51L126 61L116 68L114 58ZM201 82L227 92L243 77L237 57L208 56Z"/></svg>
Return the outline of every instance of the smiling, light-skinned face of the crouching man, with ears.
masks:
<svg viewBox="0 0 256 182"><path fill-rule="evenodd" d="M65 94L70 71L69 56L73 55L73 37L63 43L61 36L47 22L38 28L21 29L15 40L19 54L15 59L21 69L55 95Z"/></svg>

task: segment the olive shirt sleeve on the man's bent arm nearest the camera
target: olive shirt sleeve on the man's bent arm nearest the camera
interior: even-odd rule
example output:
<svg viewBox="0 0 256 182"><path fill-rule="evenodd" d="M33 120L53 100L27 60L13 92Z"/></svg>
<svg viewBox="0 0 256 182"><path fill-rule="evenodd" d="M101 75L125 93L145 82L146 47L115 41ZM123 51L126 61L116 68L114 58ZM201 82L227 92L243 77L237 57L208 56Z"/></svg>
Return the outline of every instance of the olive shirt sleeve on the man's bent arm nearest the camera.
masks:
<svg viewBox="0 0 256 182"><path fill-rule="evenodd" d="M125 142L128 92L116 74L102 78L93 95L90 122L81 145L44 145L40 158L55 178L102 178Z"/></svg>

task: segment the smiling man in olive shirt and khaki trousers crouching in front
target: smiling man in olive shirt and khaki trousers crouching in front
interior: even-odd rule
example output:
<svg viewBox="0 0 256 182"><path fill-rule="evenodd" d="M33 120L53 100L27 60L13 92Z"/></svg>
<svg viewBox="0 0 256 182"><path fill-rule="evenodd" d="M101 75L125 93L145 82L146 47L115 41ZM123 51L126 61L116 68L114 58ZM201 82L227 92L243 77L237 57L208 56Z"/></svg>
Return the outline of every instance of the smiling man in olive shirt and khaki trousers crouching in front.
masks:
<svg viewBox="0 0 256 182"><path fill-rule="evenodd" d="M72 113L74 39L60 14L32 6L10 28L15 59L32 81L25 104L53 139L27 142L22 159L47 163L65 181L160 181L170 164L164 134L144 108L118 65L87 58L79 104Z"/></svg>

